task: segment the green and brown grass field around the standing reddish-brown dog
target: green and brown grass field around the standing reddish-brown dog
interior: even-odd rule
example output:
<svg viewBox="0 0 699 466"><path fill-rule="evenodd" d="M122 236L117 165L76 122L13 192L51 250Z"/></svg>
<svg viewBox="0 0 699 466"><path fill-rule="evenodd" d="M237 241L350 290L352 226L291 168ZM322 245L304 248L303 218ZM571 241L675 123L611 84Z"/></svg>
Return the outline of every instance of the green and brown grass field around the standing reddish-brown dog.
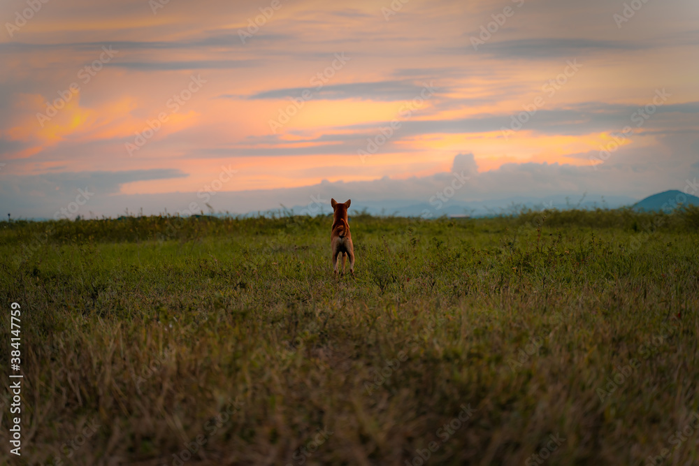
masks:
<svg viewBox="0 0 699 466"><path fill-rule="evenodd" d="M699 463L699 210L350 215L0 223L3 464Z"/></svg>

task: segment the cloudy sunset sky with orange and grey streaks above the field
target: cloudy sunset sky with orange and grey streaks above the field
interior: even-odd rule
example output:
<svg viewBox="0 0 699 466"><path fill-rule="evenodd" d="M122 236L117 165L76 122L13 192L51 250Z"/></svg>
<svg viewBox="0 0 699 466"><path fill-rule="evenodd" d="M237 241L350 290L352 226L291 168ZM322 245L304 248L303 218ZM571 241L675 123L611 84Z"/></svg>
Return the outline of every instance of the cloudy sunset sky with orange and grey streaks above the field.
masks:
<svg viewBox="0 0 699 466"><path fill-rule="evenodd" d="M696 0L6 0L0 20L13 218L699 194Z"/></svg>

